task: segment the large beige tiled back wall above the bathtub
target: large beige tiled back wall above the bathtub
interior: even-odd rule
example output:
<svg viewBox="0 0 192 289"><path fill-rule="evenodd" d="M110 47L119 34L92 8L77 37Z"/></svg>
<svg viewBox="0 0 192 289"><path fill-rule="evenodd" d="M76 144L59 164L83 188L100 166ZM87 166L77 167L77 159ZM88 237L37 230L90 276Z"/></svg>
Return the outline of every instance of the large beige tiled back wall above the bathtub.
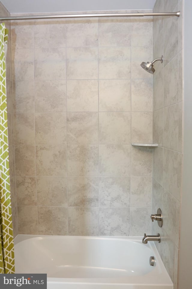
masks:
<svg viewBox="0 0 192 289"><path fill-rule="evenodd" d="M152 19L12 23L19 234L151 232Z"/></svg>

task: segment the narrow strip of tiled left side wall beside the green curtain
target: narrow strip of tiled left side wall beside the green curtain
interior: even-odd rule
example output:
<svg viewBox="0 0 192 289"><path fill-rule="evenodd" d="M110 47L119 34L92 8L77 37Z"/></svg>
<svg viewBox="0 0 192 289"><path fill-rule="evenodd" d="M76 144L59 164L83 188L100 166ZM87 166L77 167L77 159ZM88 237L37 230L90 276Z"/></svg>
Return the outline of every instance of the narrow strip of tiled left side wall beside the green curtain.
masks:
<svg viewBox="0 0 192 289"><path fill-rule="evenodd" d="M10 13L0 2L0 15L2 17L10 16ZM13 235L16 237L17 230L17 203L15 190L15 163L14 163L14 137L13 137L13 105L12 105L12 73L11 73L11 25L10 21L6 21L5 25L9 30L7 43L6 58L6 85L7 85L7 122L8 122L8 139L9 139L9 168L10 168L10 191L13 219Z"/></svg>

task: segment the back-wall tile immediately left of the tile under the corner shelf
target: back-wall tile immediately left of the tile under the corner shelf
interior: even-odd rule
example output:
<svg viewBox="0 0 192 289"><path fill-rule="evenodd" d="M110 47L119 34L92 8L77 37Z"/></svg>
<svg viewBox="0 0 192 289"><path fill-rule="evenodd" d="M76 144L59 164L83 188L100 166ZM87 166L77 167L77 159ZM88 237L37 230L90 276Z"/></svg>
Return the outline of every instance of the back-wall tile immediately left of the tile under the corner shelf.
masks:
<svg viewBox="0 0 192 289"><path fill-rule="evenodd" d="M100 176L130 176L130 145L100 145Z"/></svg>

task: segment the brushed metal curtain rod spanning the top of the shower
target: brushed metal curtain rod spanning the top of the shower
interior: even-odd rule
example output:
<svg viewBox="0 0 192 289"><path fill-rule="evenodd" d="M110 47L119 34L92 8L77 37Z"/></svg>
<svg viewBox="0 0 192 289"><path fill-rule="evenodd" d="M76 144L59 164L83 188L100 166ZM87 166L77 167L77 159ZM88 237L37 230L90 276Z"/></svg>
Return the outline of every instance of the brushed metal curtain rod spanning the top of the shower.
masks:
<svg viewBox="0 0 192 289"><path fill-rule="evenodd" d="M180 16L178 12L165 13L110 13L110 14L66 14L66 15L37 15L37 16L12 16L0 17L0 21L6 20L30 20L30 19L52 19L52 18L76 18L76 17L145 17L145 16Z"/></svg>

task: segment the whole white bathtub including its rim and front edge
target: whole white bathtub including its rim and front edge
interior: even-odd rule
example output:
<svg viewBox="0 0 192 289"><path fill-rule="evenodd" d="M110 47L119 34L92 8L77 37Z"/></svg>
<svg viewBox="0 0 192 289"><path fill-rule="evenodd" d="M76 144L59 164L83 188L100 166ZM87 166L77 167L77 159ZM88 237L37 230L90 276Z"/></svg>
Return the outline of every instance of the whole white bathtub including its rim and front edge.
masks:
<svg viewBox="0 0 192 289"><path fill-rule="evenodd" d="M15 266L47 273L47 289L173 289L155 245L141 238L18 235Z"/></svg>

